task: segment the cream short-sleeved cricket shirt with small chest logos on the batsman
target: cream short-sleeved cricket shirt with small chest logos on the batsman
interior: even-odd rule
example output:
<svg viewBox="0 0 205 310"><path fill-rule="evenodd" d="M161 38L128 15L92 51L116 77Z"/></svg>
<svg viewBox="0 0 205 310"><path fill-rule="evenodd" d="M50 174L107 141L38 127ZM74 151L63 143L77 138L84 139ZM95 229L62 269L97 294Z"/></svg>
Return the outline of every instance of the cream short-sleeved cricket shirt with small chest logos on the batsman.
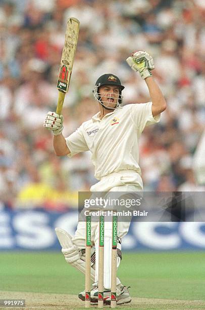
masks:
<svg viewBox="0 0 205 310"><path fill-rule="evenodd" d="M90 150L95 177L120 170L134 170L141 175L139 137L145 126L160 121L152 116L152 102L128 104L108 113L100 120L99 112L66 138L68 157Z"/></svg>

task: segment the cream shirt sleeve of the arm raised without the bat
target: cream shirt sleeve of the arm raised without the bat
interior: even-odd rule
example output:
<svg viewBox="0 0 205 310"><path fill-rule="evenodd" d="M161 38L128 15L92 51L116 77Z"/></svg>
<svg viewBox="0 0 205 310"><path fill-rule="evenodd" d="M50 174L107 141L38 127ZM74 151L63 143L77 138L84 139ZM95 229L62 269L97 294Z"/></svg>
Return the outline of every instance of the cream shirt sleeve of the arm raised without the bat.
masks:
<svg viewBox="0 0 205 310"><path fill-rule="evenodd" d="M142 133L145 126L160 122L160 114L153 117L151 106L152 102L132 104L131 117L139 133Z"/></svg>

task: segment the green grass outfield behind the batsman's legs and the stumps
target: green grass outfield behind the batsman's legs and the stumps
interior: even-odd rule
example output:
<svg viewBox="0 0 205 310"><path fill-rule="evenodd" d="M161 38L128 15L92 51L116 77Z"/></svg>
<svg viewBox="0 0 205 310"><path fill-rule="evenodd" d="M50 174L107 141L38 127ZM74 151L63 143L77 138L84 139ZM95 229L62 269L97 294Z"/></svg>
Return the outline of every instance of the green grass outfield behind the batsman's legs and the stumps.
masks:
<svg viewBox="0 0 205 310"><path fill-rule="evenodd" d="M84 276L61 253L2 252L0 266L1 291L84 290ZM205 252L126 253L118 276L132 297L205 301Z"/></svg>

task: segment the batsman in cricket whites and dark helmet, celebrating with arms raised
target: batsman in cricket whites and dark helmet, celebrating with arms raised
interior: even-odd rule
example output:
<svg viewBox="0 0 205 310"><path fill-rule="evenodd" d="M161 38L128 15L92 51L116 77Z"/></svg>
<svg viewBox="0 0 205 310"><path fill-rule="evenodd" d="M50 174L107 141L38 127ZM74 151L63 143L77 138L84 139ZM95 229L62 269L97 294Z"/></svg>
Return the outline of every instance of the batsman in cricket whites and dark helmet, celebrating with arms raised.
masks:
<svg viewBox="0 0 205 310"><path fill-rule="evenodd" d="M73 157L90 150L95 177L99 181L90 191L142 191L143 184L139 167L139 137L145 126L158 123L160 114L166 109L165 98L152 77L155 68L152 57L145 51L136 51L127 58L127 63L139 72L145 81L150 102L123 105L123 89L119 78L106 73L95 83L93 95L99 111L91 120L84 122L69 137L64 137L63 115L48 112L44 127L53 131L54 149L57 156ZM97 302L98 293L98 234L97 222L91 228L93 248L91 250L91 302ZM121 239L127 234L129 222L118 223L117 267L120 265ZM75 235L66 234L67 243L62 249L66 261L85 273L85 222L79 222ZM111 231L105 232L104 301L111 300ZM85 300L85 292L79 293ZM117 278L117 304L128 303L131 297L128 288Z"/></svg>

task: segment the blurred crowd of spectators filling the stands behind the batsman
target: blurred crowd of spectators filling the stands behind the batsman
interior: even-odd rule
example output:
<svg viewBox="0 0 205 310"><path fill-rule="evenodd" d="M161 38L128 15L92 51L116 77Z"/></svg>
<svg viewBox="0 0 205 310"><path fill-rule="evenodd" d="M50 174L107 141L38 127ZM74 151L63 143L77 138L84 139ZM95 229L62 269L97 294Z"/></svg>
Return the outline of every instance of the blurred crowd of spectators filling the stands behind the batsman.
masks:
<svg viewBox="0 0 205 310"><path fill-rule="evenodd" d="M56 157L43 128L56 109L66 23L80 20L64 135L98 110L99 75L114 73L124 104L147 102L148 90L126 58L146 50L168 108L140 139L146 191L204 190L192 171L205 121L205 2L203 0L0 0L0 197L8 207L64 209L89 190L90 152Z"/></svg>

